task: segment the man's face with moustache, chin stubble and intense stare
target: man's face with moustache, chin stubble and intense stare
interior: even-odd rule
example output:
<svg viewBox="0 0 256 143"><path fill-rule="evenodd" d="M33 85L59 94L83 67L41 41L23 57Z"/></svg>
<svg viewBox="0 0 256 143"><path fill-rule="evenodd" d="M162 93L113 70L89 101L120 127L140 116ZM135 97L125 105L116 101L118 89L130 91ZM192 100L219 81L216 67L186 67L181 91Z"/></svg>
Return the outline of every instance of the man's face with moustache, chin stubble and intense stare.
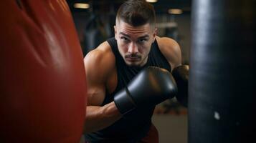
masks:
<svg viewBox="0 0 256 143"><path fill-rule="evenodd" d="M118 50L128 66L143 66L148 59L151 44L156 38L156 29L150 24L131 26L119 20L115 25Z"/></svg>

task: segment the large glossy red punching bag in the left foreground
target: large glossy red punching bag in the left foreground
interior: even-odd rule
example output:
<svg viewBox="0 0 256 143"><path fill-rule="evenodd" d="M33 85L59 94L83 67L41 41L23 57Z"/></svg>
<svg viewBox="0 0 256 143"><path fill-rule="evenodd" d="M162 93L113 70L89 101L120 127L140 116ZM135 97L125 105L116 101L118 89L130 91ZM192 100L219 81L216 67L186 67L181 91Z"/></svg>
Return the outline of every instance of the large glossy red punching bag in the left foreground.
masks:
<svg viewBox="0 0 256 143"><path fill-rule="evenodd" d="M79 142L82 50L65 0L0 4L0 142Z"/></svg>

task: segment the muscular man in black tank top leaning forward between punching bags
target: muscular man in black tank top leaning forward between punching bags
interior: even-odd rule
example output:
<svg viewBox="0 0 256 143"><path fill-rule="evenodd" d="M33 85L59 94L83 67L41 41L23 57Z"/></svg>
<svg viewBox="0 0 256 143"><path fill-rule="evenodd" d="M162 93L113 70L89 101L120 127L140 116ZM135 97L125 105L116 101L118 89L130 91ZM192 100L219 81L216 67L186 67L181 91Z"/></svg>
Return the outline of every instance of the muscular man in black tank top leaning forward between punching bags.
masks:
<svg viewBox="0 0 256 143"><path fill-rule="evenodd" d="M141 87L148 81L151 82L150 79L143 79L138 84L141 79L133 78L141 72L141 77L148 78L149 74L154 73L151 69L143 71L148 66L158 66L171 72L171 69L181 64L181 49L173 39L156 36L155 24L156 16L151 4L144 0L125 1L116 16L115 38L108 39L85 56L87 114L84 132L87 142L158 142L158 132L151 123L155 104L146 105L148 98L154 96L148 96L151 93L146 92L154 90L154 87ZM161 80L166 79L164 76L162 78L162 74L166 72L160 71L153 77L158 78L160 75ZM128 91L132 89L127 86L132 79L135 81L132 83L135 90L138 87L146 95L134 95L136 92ZM171 78L167 80L175 87ZM163 90L164 85L167 84L163 82ZM122 89L125 94L120 93ZM171 89L168 94L172 92L174 91ZM140 103L135 101L133 103L136 106L127 109L122 103L128 93L132 94L131 99L148 97L141 99L145 100L145 103L141 103L143 106L140 107Z"/></svg>

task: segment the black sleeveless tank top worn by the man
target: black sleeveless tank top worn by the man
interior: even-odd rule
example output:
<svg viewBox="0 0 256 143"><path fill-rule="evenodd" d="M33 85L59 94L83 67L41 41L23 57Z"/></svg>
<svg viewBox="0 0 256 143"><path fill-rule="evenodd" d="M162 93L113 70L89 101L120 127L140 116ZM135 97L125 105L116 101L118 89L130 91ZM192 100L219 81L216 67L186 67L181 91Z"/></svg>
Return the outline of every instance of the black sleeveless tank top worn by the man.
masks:
<svg viewBox="0 0 256 143"><path fill-rule="evenodd" d="M161 53L156 40L151 46L147 63L142 67L133 67L125 64L123 57L118 51L118 45L115 38L108 39L108 43L115 55L118 85L113 93L109 94L107 92L102 106L113 102L114 95L119 92L120 89L123 89L131 79L141 71L141 69L147 66L158 66L171 71L171 66ZM125 116L119 119L110 127L106 127L98 132L85 134L85 140L92 143L138 142L141 138L146 136L149 127L151 126L151 117L154 109L155 106L137 109L135 112L129 114L128 117Z"/></svg>

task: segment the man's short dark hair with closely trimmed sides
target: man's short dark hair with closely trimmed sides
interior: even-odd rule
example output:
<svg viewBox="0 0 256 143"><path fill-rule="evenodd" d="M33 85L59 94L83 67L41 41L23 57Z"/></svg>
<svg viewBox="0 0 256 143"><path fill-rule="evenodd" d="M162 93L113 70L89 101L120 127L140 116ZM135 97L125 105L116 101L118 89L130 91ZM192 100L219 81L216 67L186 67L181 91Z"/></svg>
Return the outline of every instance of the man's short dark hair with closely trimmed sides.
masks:
<svg viewBox="0 0 256 143"><path fill-rule="evenodd" d="M142 26L144 24L155 26L156 13L153 5L145 0L128 0L118 9L116 19L132 26Z"/></svg>

